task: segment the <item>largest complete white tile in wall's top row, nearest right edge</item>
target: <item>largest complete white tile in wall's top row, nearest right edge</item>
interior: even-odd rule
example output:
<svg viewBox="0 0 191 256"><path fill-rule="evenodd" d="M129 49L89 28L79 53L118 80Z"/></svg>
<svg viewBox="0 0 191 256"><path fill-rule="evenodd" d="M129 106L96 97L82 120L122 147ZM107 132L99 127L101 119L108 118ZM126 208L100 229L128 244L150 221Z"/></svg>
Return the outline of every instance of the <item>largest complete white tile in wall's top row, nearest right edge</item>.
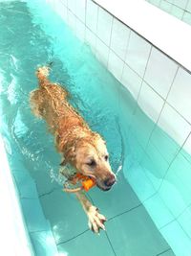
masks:
<svg viewBox="0 0 191 256"><path fill-rule="evenodd" d="M165 99L177 69L178 65L174 61L153 48L144 79Z"/></svg>

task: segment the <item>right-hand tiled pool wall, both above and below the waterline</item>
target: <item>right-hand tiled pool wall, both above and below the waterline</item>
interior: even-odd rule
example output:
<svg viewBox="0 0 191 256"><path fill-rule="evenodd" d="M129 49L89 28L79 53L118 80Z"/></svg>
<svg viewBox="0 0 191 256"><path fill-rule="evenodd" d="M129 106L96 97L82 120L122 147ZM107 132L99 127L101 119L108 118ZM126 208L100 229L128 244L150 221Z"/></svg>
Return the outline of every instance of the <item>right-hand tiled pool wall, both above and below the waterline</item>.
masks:
<svg viewBox="0 0 191 256"><path fill-rule="evenodd" d="M176 255L189 256L190 72L91 0L50 0L47 3L127 87L137 106L153 121L144 121L146 132L142 137L140 134L135 144L140 155L144 154L137 159L141 168L135 168L135 172L130 168L124 175ZM132 129L134 123L139 122L141 133L143 123L138 120L137 106L132 114ZM153 174L147 172L153 166Z"/></svg>

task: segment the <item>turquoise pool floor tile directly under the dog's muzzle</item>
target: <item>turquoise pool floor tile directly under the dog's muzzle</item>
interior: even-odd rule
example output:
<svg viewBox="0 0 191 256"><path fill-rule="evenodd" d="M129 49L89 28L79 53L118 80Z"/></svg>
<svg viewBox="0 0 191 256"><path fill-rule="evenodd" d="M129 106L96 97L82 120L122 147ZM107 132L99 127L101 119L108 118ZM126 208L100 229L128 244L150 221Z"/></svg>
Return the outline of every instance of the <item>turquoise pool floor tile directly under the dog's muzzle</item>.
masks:
<svg viewBox="0 0 191 256"><path fill-rule="evenodd" d="M110 191L103 192L96 188L91 190L89 194L93 198L96 207L99 208L100 213L105 215L107 219L130 210L140 203L122 173L117 175L117 184Z"/></svg>

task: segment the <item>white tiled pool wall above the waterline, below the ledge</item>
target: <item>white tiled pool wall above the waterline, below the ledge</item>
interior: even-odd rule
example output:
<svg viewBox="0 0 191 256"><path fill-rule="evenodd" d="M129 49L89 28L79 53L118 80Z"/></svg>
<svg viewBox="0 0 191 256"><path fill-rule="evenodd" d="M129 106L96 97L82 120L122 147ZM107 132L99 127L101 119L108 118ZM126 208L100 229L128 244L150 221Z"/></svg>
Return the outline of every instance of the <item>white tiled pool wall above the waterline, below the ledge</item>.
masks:
<svg viewBox="0 0 191 256"><path fill-rule="evenodd" d="M187 9L191 8L190 2ZM53 3L75 35L90 45L96 58L127 87L146 114L154 122L159 119L159 126L182 145L189 132L188 123L191 124L191 75L182 68L178 72L177 63L92 0ZM180 6L184 3L179 1ZM169 105L165 105L159 117L167 96Z"/></svg>

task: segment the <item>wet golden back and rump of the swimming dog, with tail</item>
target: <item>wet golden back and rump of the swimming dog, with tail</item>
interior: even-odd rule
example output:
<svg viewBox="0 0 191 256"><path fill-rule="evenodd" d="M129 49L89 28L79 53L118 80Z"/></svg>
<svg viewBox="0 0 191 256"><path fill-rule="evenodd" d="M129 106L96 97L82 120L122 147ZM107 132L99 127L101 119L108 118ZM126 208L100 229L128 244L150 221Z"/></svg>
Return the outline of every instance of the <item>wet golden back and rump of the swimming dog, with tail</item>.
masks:
<svg viewBox="0 0 191 256"><path fill-rule="evenodd" d="M36 76L39 88L31 93L32 112L35 116L46 120L55 139L63 137L74 127L88 128L74 107L67 102L67 90L49 81L49 67L38 68ZM59 151L59 147L56 148Z"/></svg>

